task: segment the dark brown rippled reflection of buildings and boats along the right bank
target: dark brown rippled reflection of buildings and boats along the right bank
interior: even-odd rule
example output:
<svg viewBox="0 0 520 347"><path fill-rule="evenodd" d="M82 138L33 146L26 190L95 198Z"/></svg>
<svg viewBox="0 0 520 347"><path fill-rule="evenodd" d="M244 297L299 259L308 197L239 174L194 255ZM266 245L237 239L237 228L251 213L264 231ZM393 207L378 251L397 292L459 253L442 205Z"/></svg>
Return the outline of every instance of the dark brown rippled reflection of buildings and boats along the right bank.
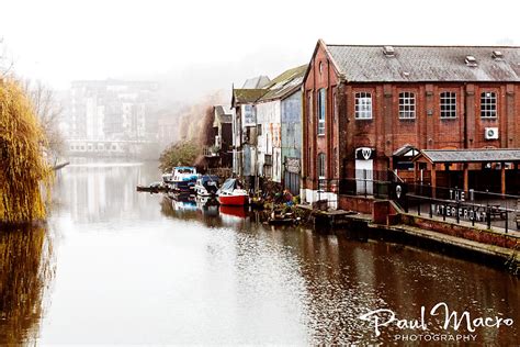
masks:
<svg viewBox="0 0 520 347"><path fill-rule="evenodd" d="M377 309L389 309L398 318L416 320L420 318L421 305L429 311L445 302L451 311L468 311L473 317L518 320L516 307L520 299L511 291L518 281L502 271L412 246L370 240L362 232L317 234L305 227L268 226L258 213L244 209L219 206L218 213L212 214L201 203L197 209L194 204L186 206L165 199L161 212L216 227L214 243L208 247L213 266L218 264L215 257L226 254L223 249L227 248L217 237L223 234L219 228L233 228L235 249L227 253L233 254L238 270L230 277L234 282L228 283L227 290L238 301L247 301L247 306L270 310L274 310L270 303L276 302L273 293L286 293L283 296L291 301L285 306L299 315L310 344L392 344L396 334L418 333L391 325L376 338L373 328L359 316ZM216 268L212 270L217 272ZM265 281L270 288L258 288ZM242 292L245 288L255 295ZM259 301L251 301L256 296ZM241 314L248 316L247 312ZM281 313L275 317L280 316L283 317ZM294 315L285 316L285 325L291 318ZM470 333L462 327L457 332L443 331L442 316L429 320L432 334ZM252 334L250 327L235 323L237 328ZM294 325L292 331L296 331ZM481 343L507 345L516 340L519 332L516 327L479 327L476 334Z"/></svg>

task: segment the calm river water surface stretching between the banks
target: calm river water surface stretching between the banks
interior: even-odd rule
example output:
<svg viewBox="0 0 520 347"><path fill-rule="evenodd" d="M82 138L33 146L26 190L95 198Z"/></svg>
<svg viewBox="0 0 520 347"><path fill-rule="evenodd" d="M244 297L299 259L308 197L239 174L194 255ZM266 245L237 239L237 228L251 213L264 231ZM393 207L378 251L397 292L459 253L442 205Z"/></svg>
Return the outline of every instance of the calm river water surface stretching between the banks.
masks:
<svg viewBox="0 0 520 347"><path fill-rule="evenodd" d="M158 177L156 163L70 165L46 225L1 231L0 343L520 343L520 286L507 272L135 191ZM444 311L430 314L442 302L512 325L444 329ZM421 306L426 329L391 323L375 336L360 320L378 309L419 320Z"/></svg>

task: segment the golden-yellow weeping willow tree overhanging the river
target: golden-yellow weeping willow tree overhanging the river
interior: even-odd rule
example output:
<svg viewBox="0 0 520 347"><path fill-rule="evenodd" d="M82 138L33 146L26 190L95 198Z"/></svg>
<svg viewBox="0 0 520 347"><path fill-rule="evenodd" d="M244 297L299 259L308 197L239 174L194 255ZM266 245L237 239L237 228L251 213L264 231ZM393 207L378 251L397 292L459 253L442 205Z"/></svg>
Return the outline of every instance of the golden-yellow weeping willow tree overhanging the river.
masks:
<svg viewBox="0 0 520 347"><path fill-rule="evenodd" d="M45 219L41 187L48 192L52 176L43 154L45 145L27 94L19 82L0 79L0 222Z"/></svg>

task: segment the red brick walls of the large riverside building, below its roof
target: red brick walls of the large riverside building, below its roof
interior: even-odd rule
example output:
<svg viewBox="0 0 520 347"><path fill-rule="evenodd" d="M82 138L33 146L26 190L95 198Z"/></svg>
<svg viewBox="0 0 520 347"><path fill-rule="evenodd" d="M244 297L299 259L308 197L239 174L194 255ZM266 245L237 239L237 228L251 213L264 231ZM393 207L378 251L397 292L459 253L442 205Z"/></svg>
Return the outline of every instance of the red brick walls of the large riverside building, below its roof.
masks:
<svg viewBox="0 0 520 347"><path fill-rule="evenodd" d="M321 71L319 66L321 65ZM374 147L375 170L392 167L392 154L406 144L419 149L520 147L520 86L497 82L349 83L341 82L325 47L317 45L304 82L303 184L317 189L317 155L325 153L326 177L354 169L354 150ZM326 134L317 135L318 90L327 90ZM354 117L355 92L372 94L372 120ZM399 119L399 92L414 92L416 117ZM456 117L441 119L440 93L456 93ZM481 117L481 93L497 96L497 117ZM336 94L336 98L335 98ZM309 108L309 102L310 108ZM309 114L312 112L312 114ZM486 127L498 127L498 139L485 139ZM471 167L472 169L472 167Z"/></svg>

